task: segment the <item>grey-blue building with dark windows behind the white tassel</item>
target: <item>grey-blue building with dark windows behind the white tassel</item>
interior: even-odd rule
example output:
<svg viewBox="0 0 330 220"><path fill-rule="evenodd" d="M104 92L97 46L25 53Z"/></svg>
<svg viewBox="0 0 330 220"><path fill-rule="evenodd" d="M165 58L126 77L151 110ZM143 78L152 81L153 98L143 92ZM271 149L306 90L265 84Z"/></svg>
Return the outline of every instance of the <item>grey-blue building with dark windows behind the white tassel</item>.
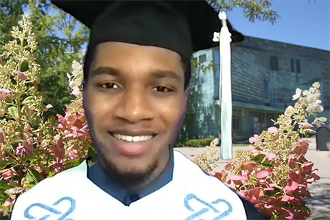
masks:
<svg viewBox="0 0 330 220"><path fill-rule="evenodd" d="M200 63L209 61L219 67L219 47L194 53ZM308 89L321 84L321 100L330 118L330 52L311 47L281 43L245 36L232 45L232 137L234 141L248 140L254 133L272 126L285 108L293 105L296 88ZM219 68L193 73L192 89L199 89L197 124L191 129L203 137L219 133ZM329 121L327 122L329 124Z"/></svg>

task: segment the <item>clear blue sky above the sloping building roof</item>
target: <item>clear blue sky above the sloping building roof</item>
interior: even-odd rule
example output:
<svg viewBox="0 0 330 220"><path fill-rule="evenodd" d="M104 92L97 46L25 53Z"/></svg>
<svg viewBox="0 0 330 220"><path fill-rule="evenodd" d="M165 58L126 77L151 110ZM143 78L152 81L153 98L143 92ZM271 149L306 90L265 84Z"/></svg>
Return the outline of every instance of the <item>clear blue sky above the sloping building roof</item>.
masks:
<svg viewBox="0 0 330 220"><path fill-rule="evenodd" d="M273 0L272 10L280 18L272 23L243 17L243 10L227 12L233 27L246 36L255 36L322 50L330 50L330 0Z"/></svg>

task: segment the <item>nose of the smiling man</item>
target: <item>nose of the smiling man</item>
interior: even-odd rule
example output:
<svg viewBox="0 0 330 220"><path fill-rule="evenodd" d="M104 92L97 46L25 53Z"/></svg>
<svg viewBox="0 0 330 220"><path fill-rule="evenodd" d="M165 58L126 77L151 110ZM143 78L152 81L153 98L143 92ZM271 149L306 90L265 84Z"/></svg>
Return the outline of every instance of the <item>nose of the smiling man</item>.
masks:
<svg viewBox="0 0 330 220"><path fill-rule="evenodd" d="M126 120L129 123L137 123L153 118L153 109L150 98L145 91L125 91L115 107L115 117Z"/></svg>

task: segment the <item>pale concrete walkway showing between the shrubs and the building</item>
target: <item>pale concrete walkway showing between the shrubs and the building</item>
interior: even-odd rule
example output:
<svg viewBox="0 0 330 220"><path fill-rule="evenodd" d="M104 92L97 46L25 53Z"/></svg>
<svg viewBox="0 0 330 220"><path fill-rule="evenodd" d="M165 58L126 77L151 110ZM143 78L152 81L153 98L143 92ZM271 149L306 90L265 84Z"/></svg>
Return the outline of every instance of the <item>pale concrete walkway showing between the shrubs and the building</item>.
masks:
<svg viewBox="0 0 330 220"><path fill-rule="evenodd" d="M311 192L311 199L307 199L307 206L311 209L311 219L330 219L330 157L329 151L316 151L316 139L309 139L309 149L306 158L314 162L313 168L318 168L320 180L309 184L308 189ZM203 153L205 148L175 148L176 151L184 153L186 157L192 159L196 155ZM220 149L218 149L220 152ZM237 150L248 150L248 146L236 146L233 148L233 157ZM214 171L221 171L225 166L226 161L219 160L217 168Z"/></svg>

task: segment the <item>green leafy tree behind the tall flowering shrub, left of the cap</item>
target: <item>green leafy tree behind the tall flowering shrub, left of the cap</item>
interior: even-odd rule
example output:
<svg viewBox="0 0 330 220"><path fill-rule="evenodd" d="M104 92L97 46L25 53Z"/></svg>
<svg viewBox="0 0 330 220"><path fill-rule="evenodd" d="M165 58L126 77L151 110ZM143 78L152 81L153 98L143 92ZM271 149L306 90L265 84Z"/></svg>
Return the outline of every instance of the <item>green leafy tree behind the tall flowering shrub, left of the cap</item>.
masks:
<svg viewBox="0 0 330 220"><path fill-rule="evenodd" d="M12 40L10 31L21 19L23 12L30 13L32 31L36 34L38 51L36 63L42 67L39 90L46 95L46 102L53 109L45 115L65 113L65 104L74 99L71 96L67 73L72 62L81 60L79 52L88 41L89 30L76 19L45 0L0 1L0 45ZM2 52L2 51L0 51Z"/></svg>

